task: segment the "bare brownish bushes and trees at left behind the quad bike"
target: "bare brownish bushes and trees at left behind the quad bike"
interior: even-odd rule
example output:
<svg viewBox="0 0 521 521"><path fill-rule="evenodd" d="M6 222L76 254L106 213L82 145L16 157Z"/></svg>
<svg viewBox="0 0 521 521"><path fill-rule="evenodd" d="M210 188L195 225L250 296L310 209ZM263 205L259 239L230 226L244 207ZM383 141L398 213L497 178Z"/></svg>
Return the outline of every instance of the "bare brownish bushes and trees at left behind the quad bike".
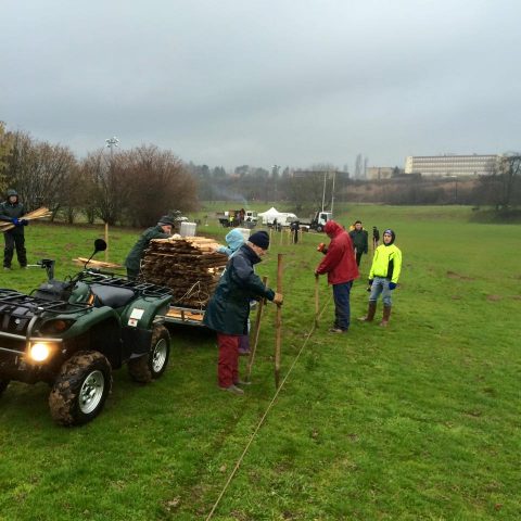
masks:
<svg viewBox="0 0 521 521"><path fill-rule="evenodd" d="M196 181L170 151L153 144L99 149L78 160L67 147L7 131L0 123L1 193L8 188L27 208L47 206L71 224L82 215L91 224L143 227L198 205Z"/></svg>

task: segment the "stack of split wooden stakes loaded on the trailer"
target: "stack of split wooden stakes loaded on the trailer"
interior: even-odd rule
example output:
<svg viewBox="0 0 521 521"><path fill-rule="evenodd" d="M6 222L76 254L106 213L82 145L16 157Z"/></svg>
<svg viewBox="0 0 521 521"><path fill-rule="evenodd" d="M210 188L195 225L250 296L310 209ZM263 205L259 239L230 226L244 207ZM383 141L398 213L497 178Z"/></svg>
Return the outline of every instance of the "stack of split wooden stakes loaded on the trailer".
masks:
<svg viewBox="0 0 521 521"><path fill-rule="evenodd" d="M228 257L204 237L153 239L141 263L147 282L171 289L176 306L202 309L215 290Z"/></svg>

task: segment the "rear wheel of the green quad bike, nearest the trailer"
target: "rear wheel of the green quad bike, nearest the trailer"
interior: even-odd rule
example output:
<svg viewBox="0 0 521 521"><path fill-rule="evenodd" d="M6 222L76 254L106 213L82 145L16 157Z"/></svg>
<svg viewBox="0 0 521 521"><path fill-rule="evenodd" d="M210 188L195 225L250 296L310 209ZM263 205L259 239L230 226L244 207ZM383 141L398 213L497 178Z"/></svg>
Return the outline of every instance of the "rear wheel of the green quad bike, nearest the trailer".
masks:
<svg viewBox="0 0 521 521"><path fill-rule="evenodd" d="M150 383L165 372L169 357L170 334L164 326L154 326L149 353L129 360L128 373L136 382Z"/></svg>

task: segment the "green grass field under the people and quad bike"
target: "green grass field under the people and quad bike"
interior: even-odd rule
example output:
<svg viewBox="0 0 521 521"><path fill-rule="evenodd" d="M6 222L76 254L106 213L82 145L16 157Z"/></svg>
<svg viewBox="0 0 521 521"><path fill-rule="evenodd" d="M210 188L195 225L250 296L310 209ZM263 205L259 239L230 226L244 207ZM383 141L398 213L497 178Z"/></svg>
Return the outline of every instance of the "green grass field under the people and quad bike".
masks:
<svg viewBox="0 0 521 521"><path fill-rule="evenodd" d="M355 320L367 307L364 257L350 333L328 333L321 278L320 325L304 348L325 236L274 239L257 272L275 281L284 253L282 377L302 353L212 519L521 519L521 226L470 224L470 214L346 208L344 225L396 231L404 267L391 323ZM111 230L110 260L138 232ZM73 274L71 259L97 237L101 227L31 225L29 262L56 258L59 278ZM13 269L0 285L43 278ZM170 366L153 384L115 372L104 411L82 428L51 421L47 385L12 383L0 397L0 520L206 519L274 397L274 323L268 305L244 397L218 391L214 335L193 328L170 328Z"/></svg>

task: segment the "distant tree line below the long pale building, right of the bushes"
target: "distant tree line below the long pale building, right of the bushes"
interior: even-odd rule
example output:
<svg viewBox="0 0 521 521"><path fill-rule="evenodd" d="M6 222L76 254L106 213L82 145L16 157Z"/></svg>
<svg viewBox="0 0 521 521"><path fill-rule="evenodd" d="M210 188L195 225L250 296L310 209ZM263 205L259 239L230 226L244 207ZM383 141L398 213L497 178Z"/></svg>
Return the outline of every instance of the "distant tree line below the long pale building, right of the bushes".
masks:
<svg viewBox="0 0 521 521"><path fill-rule="evenodd" d="M521 206L521 154L517 153L501 155L491 175L479 177L421 177L404 175L396 167L390 179L363 180L330 164L313 165L308 170L285 167L281 175L275 166L268 171L242 165L231 175L223 167L211 169L190 163L188 168L200 180L201 200L240 201L243 205L247 201L284 201L297 212L319 208L322 198L330 205L333 173L338 202L466 204L493 206L498 212Z"/></svg>

